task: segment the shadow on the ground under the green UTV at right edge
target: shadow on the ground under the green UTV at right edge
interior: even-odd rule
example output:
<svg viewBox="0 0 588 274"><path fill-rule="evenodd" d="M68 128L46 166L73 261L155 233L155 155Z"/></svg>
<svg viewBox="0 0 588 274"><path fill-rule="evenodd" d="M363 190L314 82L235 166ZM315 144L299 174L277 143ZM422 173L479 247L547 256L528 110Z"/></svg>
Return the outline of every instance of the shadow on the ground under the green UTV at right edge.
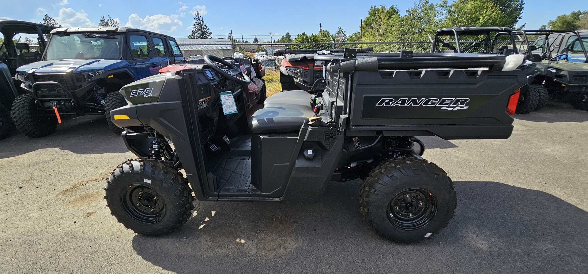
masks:
<svg viewBox="0 0 588 274"><path fill-rule="evenodd" d="M588 111L577 110L569 103L552 100L540 110L515 114L515 119L542 123L583 123L588 121Z"/></svg>

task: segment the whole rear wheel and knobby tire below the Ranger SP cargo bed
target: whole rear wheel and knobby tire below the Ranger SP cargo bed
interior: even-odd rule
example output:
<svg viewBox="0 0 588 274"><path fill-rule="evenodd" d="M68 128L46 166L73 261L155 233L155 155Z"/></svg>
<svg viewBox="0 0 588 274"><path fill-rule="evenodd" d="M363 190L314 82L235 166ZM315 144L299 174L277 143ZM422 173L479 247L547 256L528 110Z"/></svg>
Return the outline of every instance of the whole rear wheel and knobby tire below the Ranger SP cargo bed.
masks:
<svg viewBox="0 0 588 274"><path fill-rule="evenodd" d="M386 239L418 242L449 224L457 205L453 182L436 164L397 157L378 165L359 196L363 219Z"/></svg>

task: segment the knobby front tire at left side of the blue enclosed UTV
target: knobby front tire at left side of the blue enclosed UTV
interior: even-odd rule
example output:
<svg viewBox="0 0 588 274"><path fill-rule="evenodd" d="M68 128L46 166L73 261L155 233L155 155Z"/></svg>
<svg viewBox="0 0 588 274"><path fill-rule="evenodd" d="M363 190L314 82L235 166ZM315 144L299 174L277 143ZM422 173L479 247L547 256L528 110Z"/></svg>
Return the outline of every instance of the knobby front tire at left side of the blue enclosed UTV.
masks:
<svg viewBox="0 0 588 274"><path fill-rule="evenodd" d="M57 116L35 103L31 94L22 94L12 102L12 121L28 137L43 137L55 132Z"/></svg>

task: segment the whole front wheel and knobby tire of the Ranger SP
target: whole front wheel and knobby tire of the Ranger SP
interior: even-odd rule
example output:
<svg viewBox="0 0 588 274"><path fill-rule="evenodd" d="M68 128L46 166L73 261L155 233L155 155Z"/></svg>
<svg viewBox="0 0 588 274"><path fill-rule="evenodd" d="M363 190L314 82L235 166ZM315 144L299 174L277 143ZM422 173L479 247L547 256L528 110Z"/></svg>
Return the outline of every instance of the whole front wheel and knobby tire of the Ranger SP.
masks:
<svg viewBox="0 0 588 274"><path fill-rule="evenodd" d="M138 234L175 231L192 215L192 189L175 168L155 160L129 160L111 172L106 206L118 222Z"/></svg>

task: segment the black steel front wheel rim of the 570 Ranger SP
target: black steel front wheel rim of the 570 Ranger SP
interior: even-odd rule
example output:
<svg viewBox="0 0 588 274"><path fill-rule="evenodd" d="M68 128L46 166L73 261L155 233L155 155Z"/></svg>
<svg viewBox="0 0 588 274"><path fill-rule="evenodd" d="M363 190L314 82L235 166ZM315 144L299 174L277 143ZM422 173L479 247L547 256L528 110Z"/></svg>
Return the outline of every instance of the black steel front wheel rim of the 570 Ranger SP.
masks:
<svg viewBox="0 0 588 274"><path fill-rule="evenodd" d="M165 201L146 185L129 185L121 198L126 213L136 221L153 224L165 215Z"/></svg>

